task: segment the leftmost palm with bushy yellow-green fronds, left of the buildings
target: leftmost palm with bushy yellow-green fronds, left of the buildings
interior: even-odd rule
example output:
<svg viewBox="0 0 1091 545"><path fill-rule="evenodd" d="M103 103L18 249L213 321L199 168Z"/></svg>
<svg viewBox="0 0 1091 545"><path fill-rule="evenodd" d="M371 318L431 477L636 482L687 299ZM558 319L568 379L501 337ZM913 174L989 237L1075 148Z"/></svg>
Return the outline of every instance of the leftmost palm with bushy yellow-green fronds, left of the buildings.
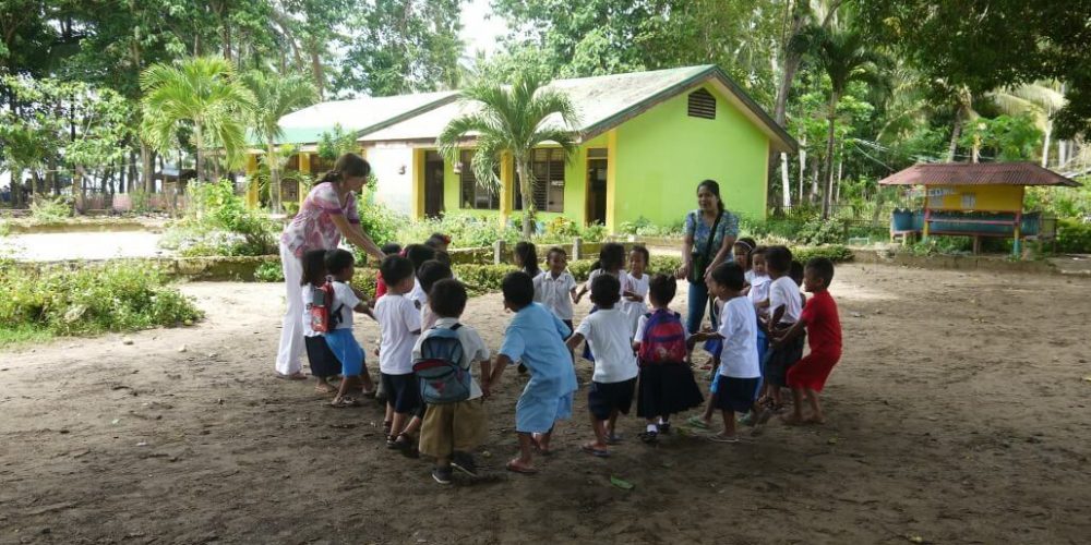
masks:
<svg viewBox="0 0 1091 545"><path fill-rule="evenodd" d="M223 57L192 57L177 64L153 64L140 77L144 93L143 138L160 153L189 128L196 147L197 177L204 174L206 144L223 147L230 162L245 148L245 119L253 95L235 77Z"/></svg>

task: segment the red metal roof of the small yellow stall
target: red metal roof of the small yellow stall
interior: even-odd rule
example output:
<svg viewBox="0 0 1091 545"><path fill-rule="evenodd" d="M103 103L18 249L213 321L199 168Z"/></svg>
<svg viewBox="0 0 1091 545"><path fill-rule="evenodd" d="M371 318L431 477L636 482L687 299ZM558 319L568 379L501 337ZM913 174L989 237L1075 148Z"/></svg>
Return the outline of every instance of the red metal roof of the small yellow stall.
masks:
<svg viewBox="0 0 1091 545"><path fill-rule="evenodd" d="M883 185L1064 185L1080 184L1033 162L919 164L879 180Z"/></svg>

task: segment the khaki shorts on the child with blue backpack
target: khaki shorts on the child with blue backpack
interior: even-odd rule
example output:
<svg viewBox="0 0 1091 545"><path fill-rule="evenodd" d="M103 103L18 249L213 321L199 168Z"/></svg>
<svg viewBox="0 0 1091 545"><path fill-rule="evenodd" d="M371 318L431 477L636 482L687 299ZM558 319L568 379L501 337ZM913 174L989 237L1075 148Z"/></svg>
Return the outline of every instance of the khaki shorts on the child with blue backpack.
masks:
<svg viewBox="0 0 1091 545"><path fill-rule="evenodd" d="M430 404L420 428L420 452L435 458L449 458L453 451L473 450L488 436L484 398Z"/></svg>

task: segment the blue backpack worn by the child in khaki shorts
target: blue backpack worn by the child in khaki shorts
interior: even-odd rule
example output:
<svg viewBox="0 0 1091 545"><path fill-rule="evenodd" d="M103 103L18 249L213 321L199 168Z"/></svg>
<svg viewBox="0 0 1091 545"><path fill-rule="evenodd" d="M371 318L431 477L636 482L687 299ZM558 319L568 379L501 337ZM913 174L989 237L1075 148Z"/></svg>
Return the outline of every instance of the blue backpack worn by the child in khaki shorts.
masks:
<svg viewBox="0 0 1091 545"><path fill-rule="evenodd" d="M463 342L458 328L433 327L420 343L420 358L412 364L412 372L420 382L420 397L425 403L457 403L470 398L473 377L463 368Z"/></svg>

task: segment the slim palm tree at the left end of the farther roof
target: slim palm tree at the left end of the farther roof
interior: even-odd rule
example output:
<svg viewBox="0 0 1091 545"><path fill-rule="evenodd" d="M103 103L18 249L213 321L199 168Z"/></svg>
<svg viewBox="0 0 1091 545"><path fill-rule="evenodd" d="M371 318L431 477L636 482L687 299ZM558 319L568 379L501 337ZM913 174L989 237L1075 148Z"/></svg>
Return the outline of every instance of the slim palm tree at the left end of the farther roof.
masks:
<svg viewBox="0 0 1091 545"><path fill-rule="evenodd" d="M280 118L314 104L317 93L310 78L298 74L269 76L266 72L251 71L242 81L254 96L250 123L254 134L265 143L265 164L274 187L273 210L280 211L281 161L276 153L276 141L284 136L284 131L280 130L279 121Z"/></svg>

